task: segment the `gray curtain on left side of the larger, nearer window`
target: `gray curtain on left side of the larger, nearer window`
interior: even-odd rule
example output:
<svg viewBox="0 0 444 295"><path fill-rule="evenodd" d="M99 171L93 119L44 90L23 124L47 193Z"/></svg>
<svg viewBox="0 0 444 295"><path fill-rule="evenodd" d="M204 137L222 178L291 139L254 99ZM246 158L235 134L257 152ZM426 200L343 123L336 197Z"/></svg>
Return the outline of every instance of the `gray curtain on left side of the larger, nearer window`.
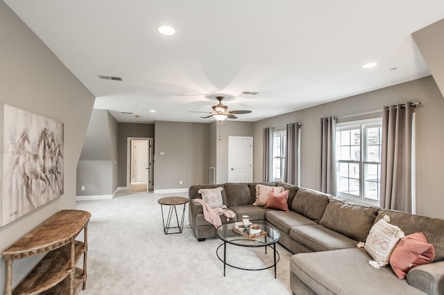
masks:
<svg viewBox="0 0 444 295"><path fill-rule="evenodd" d="M321 191L336 195L336 118L321 118Z"/></svg>

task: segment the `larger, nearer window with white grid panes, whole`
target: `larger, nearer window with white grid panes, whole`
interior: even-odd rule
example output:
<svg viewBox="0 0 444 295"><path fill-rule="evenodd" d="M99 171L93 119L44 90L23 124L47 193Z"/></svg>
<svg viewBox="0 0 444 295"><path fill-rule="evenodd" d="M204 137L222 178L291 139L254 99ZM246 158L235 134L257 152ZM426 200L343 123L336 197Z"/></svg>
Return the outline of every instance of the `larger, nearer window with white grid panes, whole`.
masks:
<svg viewBox="0 0 444 295"><path fill-rule="evenodd" d="M360 120L336 126L338 195L379 204L382 122Z"/></svg>

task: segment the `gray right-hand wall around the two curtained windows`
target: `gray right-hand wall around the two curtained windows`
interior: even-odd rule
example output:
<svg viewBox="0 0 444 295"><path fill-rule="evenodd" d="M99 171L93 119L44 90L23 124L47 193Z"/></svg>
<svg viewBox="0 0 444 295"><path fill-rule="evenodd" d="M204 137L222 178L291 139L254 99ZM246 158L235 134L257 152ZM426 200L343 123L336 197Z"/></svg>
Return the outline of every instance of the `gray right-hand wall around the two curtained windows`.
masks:
<svg viewBox="0 0 444 295"><path fill-rule="evenodd" d="M255 123L254 179L262 181L262 129L300 122L301 186L320 188L321 126L325 116L350 116L382 110L384 105L421 102L416 114L416 211L419 215L444 218L442 167L444 157L444 99L434 79L429 76L376 91L352 96L325 105L310 107ZM350 118L349 118L350 119Z"/></svg>

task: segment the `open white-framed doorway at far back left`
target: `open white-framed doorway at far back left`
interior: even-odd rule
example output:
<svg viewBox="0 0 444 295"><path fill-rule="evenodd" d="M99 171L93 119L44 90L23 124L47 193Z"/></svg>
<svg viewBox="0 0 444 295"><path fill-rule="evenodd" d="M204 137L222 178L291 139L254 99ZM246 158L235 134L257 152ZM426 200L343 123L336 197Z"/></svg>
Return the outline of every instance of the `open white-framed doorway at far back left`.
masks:
<svg viewBox="0 0 444 295"><path fill-rule="evenodd" d="M130 190L153 190L153 138L128 138L127 186Z"/></svg>

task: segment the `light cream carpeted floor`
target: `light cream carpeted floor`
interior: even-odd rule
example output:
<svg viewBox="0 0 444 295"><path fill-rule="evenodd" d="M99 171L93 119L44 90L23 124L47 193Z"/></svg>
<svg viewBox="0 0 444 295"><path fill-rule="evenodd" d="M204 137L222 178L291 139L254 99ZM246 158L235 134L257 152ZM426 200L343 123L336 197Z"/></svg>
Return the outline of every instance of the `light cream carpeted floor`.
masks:
<svg viewBox="0 0 444 295"><path fill-rule="evenodd" d="M278 245L276 279L273 269L232 267L224 277L216 256L221 240L197 242L188 222L188 204L183 232L164 235L157 199L165 196L123 192L110 200L77 202L76 208L92 213L87 290L79 294L291 294L287 249ZM263 248L231 246L227 253L239 266L258 267L270 258Z"/></svg>

